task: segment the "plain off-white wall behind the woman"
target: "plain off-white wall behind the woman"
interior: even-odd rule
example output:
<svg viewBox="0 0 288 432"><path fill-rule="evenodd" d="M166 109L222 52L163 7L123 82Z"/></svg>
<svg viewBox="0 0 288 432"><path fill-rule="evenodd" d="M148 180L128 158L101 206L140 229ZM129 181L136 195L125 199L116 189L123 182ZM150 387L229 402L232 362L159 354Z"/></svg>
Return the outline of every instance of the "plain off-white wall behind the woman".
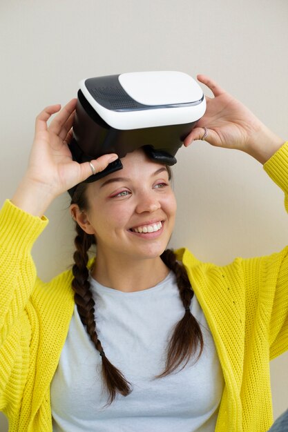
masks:
<svg viewBox="0 0 288 432"><path fill-rule="evenodd" d="M1 201L26 169L37 113L75 97L86 77L204 73L288 138L287 14L287 0L1 0ZM226 264L287 244L282 191L257 161L202 141L177 159L171 246ZM68 195L50 206L50 224L33 249L44 279L72 261L68 206ZM276 416L288 406L287 359L271 363ZM7 427L1 415L1 431Z"/></svg>

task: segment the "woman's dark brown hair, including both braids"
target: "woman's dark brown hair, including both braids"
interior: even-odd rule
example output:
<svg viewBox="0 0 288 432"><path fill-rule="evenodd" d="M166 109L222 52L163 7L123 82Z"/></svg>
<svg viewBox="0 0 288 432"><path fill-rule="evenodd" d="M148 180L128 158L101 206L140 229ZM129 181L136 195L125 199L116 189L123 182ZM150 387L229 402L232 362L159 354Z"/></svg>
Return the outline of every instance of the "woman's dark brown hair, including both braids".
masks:
<svg viewBox="0 0 288 432"><path fill-rule="evenodd" d="M169 170L169 177L171 172ZM87 210L86 184L79 184L73 195L71 204L77 204L80 210ZM76 251L73 255L75 264L73 265L72 287L75 291L75 304L81 318L81 322L86 326L86 331L90 336L99 355L102 357L102 379L108 391L108 404L115 399L116 393L127 396L131 393L131 383L128 382L119 369L117 369L106 357L102 344L97 336L95 323L95 302L90 290L89 271L88 271L88 250L95 244L95 237L87 234L76 223L77 235L75 237ZM203 337L195 317L193 317L190 306L193 298L193 289L189 282L186 270L182 263L177 262L175 253L167 249L161 255L162 261L175 273L179 294L184 306L184 315L180 322L177 322L171 339L166 348L166 365L164 371L156 378L169 375L180 365L183 369L190 358L195 355L195 362L198 361L203 349Z"/></svg>

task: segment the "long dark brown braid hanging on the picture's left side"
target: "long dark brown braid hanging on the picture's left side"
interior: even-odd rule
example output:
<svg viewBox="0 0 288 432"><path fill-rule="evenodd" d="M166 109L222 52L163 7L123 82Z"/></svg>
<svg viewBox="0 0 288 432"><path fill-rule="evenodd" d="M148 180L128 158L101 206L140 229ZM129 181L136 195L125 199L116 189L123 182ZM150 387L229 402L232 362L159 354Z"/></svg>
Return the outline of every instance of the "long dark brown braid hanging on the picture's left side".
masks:
<svg viewBox="0 0 288 432"><path fill-rule="evenodd" d="M88 235L76 224L77 236L75 237L76 251L73 255L75 264L73 265L72 287L75 291L75 304L81 318L81 322L86 326L86 331L90 336L93 344L102 358L102 377L108 390L108 404L115 399L116 393L119 392L126 396L131 393L130 383L126 381L124 375L117 369L106 357L102 344L98 339L95 323L95 302L90 290L88 281L89 272L88 250L95 243L93 235Z"/></svg>

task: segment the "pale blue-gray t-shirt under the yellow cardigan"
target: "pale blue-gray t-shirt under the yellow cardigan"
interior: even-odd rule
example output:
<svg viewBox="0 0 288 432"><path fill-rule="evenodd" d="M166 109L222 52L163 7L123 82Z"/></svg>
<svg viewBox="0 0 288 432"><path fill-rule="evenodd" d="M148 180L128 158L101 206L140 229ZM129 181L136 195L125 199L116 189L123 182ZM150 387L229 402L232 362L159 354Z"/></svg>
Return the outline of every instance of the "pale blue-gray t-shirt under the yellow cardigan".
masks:
<svg viewBox="0 0 288 432"><path fill-rule="evenodd" d="M90 279L97 334L106 353L133 386L105 406L102 360L79 318L77 307L50 387L54 432L212 432L223 376L207 322L195 295L191 311L200 322L204 351L182 371L164 371L173 326L184 315L171 272L144 291L123 293Z"/></svg>

